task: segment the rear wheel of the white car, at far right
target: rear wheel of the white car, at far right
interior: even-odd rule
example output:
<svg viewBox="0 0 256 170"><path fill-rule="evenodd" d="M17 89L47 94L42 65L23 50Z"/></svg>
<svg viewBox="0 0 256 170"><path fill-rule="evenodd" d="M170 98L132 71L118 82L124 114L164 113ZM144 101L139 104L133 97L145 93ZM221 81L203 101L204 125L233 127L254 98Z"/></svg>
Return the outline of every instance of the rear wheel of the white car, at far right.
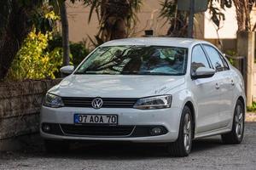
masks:
<svg viewBox="0 0 256 170"><path fill-rule="evenodd" d="M237 100L233 117L233 125L230 133L221 135L224 144L240 144L244 133L245 111L241 100Z"/></svg>

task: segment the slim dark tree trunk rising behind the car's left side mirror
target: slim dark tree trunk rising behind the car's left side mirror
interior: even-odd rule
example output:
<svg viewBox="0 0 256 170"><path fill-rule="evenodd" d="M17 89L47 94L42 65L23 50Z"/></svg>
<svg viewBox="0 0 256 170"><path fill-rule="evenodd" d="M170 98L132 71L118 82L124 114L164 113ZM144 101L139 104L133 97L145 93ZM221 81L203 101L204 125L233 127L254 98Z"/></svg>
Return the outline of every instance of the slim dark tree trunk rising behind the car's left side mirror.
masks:
<svg viewBox="0 0 256 170"><path fill-rule="evenodd" d="M69 37L68 37L68 20L67 20L67 9L65 2L60 5L61 12L61 28L62 28L62 48L63 48L63 63L62 65L69 65Z"/></svg>

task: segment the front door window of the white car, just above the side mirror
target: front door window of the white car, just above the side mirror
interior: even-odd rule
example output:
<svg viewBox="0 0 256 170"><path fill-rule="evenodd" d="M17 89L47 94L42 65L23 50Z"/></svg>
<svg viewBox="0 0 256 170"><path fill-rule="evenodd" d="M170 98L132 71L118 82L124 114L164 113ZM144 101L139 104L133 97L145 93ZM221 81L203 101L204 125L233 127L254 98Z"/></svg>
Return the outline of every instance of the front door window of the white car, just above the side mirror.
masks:
<svg viewBox="0 0 256 170"><path fill-rule="evenodd" d="M201 45L196 45L192 51L192 59L191 59L191 72L195 73L196 69L199 67L210 68L210 65L207 60L207 56L204 53Z"/></svg>

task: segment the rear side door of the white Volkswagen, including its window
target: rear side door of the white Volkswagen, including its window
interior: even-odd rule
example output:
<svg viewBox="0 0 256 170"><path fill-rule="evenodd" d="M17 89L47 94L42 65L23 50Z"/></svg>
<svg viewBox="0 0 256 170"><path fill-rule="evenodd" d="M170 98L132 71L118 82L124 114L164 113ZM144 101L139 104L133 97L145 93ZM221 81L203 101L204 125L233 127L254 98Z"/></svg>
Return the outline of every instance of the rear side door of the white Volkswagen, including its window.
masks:
<svg viewBox="0 0 256 170"><path fill-rule="evenodd" d="M225 127L233 117L232 105L234 103L233 89L235 88L235 82L232 79L232 73L229 65L218 50L208 44L203 44L203 48L206 50L206 53L217 72L216 74L219 74L218 83L219 91L221 92L219 100L219 127Z"/></svg>

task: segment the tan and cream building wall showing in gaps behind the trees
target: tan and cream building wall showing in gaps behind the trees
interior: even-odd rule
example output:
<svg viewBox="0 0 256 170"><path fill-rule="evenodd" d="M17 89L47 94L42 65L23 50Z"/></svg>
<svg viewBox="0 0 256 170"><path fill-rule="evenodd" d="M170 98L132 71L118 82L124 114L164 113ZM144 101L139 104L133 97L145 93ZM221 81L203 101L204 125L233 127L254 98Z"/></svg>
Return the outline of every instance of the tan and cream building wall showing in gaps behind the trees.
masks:
<svg viewBox="0 0 256 170"><path fill-rule="evenodd" d="M168 22L159 18L163 0L143 0L143 6L137 14L138 23L135 26L134 34L131 37L142 37L144 30L153 29L154 36L166 35L168 30ZM90 23L88 23L90 8L86 8L83 3L67 4L67 14L69 21L69 36L73 42L80 42L94 37L98 31L98 20L96 14L92 15ZM209 12L195 14L195 37L198 39L236 39L236 9L235 7L226 8L222 11L225 20L221 22L220 29L217 33L217 27L211 20ZM252 23L256 21L256 8L252 13Z"/></svg>

